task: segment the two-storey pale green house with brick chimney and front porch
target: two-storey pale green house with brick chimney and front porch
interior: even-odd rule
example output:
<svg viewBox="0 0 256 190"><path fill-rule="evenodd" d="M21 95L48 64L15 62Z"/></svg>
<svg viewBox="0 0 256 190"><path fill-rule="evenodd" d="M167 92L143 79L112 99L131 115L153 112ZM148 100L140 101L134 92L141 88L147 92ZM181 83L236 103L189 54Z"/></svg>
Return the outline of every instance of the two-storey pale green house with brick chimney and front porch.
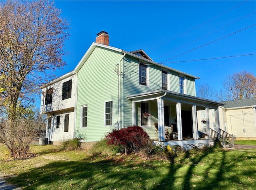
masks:
<svg viewBox="0 0 256 190"><path fill-rule="evenodd" d="M108 42L108 33L97 34L74 71L42 87L48 141L96 142L113 129L138 125L165 144L209 145L196 113L205 110L207 121L209 109L218 116L223 104L196 97L199 78L154 62L142 49L128 52ZM218 129L219 117L215 123Z"/></svg>

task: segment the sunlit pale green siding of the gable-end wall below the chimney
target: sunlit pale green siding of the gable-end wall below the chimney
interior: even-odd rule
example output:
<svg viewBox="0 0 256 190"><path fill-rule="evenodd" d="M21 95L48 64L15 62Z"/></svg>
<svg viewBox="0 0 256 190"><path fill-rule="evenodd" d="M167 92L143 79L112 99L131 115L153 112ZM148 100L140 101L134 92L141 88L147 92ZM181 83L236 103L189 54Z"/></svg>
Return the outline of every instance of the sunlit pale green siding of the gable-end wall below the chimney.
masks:
<svg viewBox="0 0 256 190"><path fill-rule="evenodd" d="M85 141L99 141L118 120L118 75L114 72L122 53L96 47L78 71L76 132ZM113 126L104 127L105 101L113 101ZM81 106L88 107L87 128L80 128Z"/></svg>

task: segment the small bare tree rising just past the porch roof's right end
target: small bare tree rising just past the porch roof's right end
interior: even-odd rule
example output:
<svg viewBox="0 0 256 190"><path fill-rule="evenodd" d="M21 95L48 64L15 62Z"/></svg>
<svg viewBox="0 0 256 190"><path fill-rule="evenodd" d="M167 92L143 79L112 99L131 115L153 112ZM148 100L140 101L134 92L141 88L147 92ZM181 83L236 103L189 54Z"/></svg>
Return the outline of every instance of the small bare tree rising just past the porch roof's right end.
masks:
<svg viewBox="0 0 256 190"><path fill-rule="evenodd" d="M196 95L197 97L214 100L214 101L217 99L216 90L207 83L198 85Z"/></svg>

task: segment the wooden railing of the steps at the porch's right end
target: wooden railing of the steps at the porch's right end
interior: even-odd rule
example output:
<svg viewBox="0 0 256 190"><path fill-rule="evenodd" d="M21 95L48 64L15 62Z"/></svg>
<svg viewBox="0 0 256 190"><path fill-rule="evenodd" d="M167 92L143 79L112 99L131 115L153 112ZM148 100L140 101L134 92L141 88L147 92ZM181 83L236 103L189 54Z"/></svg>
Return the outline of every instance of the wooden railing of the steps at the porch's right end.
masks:
<svg viewBox="0 0 256 190"><path fill-rule="evenodd" d="M234 135L229 134L226 131L223 131L222 129L219 129L219 133L217 131L214 131L210 128L210 138L211 139L219 139L222 142L222 146L224 148L234 148Z"/></svg>

